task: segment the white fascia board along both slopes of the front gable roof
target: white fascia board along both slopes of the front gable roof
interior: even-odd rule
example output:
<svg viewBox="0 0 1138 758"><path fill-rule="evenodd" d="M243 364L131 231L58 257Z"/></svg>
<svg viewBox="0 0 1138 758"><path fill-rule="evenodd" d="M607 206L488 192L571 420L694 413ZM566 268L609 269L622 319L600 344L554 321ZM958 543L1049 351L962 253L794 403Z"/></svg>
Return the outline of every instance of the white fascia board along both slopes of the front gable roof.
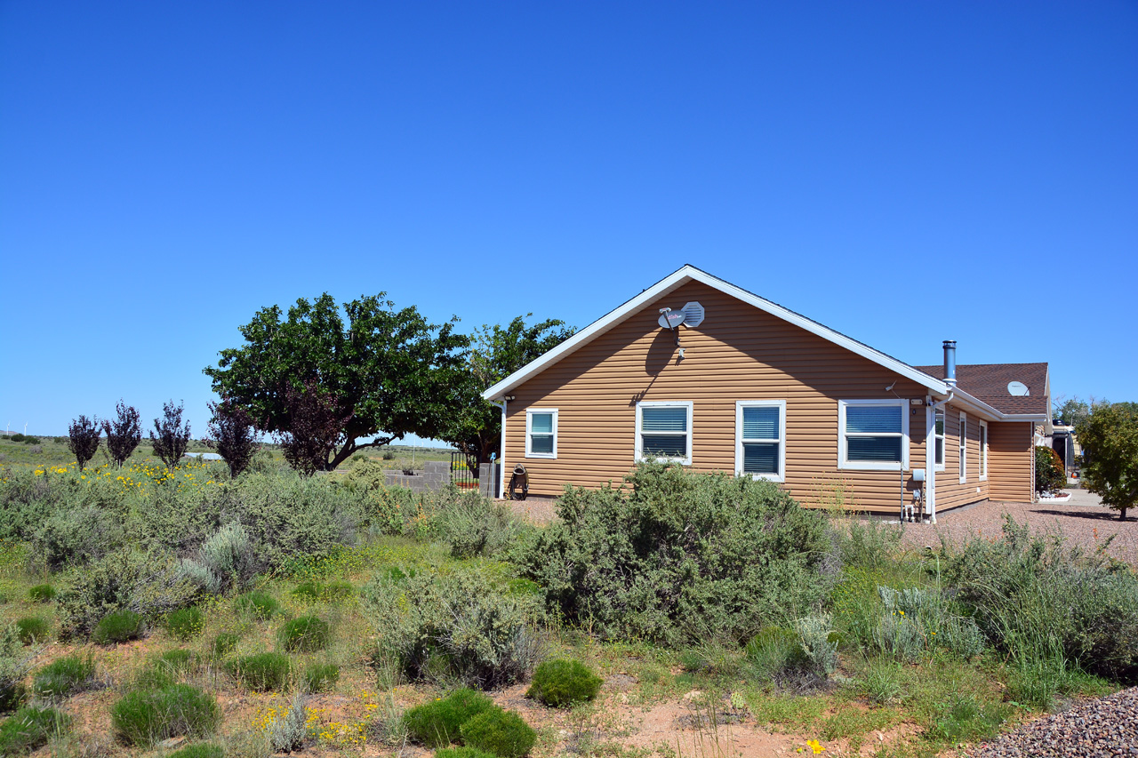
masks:
<svg viewBox="0 0 1138 758"><path fill-rule="evenodd" d="M633 313L644 307L652 300L657 299L658 297L662 297L663 295L667 295L677 287L693 280L707 285L712 289L717 289L720 293L729 295L749 305L753 305L760 311L769 313L773 316L776 316L778 319L782 319L783 321L794 324L795 327L805 329L806 331L813 335L817 335L818 337L822 337L823 339L828 340L838 345L839 347L844 347L851 353L860 355L864 359L868 359L869 361L873 361L874 363L882 365L889 369L890 371L893 371L905 377L906 379L912 379L918 385L926 387L932 393L940 395L945 395L948 393L948 385L946 385L940 379L934 379L933 377L930 377L924 371L917 371L907 363L904 363L894 357L885 355L880 351L875 351L868 345L864 345L857 341L856 339L850 339L846 335L836 332L827 327L823 327L817 321L807 319L803 315L794 313L789 308L784 308L783 306L776 303L772 303L768 299L761 298L758 295L754 295L752 293L747 291L745 289L736 287L735 285L726 282L723 279L712 277L711 274L704 271L700 271L695 266L685 265L675 273L666 277L665 279L661 279L652 287L649 287L643 293L632 298L630 300L626 302L620 307L610 311L609 313L601 316L593 323L588 324L587 327L578 331L576 335L574 335L566 341L554 347L545 355L542 355L541 357L535 359L534 361L530 361L522 368L518 369L509 377L506 377L502 381L497 382L496 385L484 392L483 397L486 399L495 399L502 397L503 395L505 395L511 389L522 384L530 377L535 376L536 373L541 372L542 370L546 369L553 363L556 363L559 360L561 360L562 356L567 355L568 353L571 353L582 345L592 340L593 338L603 335L612 327L625 321L628 316L630 316ZM995 409L992 410L995 411Z"/></svg>

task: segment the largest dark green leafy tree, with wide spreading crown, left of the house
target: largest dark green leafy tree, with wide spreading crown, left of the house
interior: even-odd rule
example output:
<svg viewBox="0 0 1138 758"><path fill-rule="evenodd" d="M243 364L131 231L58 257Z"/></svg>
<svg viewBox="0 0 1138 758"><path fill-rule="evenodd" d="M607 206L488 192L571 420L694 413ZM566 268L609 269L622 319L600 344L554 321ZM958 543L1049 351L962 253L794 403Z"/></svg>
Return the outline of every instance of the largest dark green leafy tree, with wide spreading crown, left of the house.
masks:
<svg viewBox="0 0 1138 758"><path fill-rule="evenodd" d="M315 382L336 398L337 415L347 421L325 470L409 434L438 438L457 405L469 339L454 332L457 319L432 324L385 297L361 297L341 311L325 293L298 299L287 314L262 308L240 328L245 345L223 349L204 371L215 393L247 407L274 435L292 431L287 387L303 393Z"/></svg>

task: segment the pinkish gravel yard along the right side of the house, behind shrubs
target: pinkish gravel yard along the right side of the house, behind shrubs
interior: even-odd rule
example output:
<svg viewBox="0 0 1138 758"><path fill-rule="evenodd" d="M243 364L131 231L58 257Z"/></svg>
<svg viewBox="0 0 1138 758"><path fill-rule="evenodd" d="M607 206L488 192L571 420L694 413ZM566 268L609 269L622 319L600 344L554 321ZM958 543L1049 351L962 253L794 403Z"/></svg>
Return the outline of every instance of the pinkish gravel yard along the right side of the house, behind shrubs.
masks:
<svg viewBox="0 0 1138 758"><path fill-rule="evenodd" d="M1004 514L1008 513L1020 524L1026 521L1032 532L1059 532L1069 541L1089 550L1115 535L1106 550L1107 554L1138 566L1138 519L1133 517L1135 511L1129 511L1125 521L1119 521L1119 512L1102 505L1096 495L1082 489L1070 492L1072 497L1066 503L984 501L941 513L935 526L906 524L905 542L915 547L935 547L941 535L953 544L960 544L971 536L998 537L1003 533Z"/></svg>

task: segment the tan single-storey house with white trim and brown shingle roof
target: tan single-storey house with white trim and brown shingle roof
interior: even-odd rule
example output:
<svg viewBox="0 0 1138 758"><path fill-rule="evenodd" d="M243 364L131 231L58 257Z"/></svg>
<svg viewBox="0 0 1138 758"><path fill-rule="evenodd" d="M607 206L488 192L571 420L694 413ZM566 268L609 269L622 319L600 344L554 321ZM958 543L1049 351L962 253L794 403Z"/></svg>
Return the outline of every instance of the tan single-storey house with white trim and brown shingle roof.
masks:
<svg viewBox="0 0 1138 758"><path fill-rule="evenodd" d="M945 365L908 365L685 265L483 394L498 494L519 464L555 497L654 459L880 514L1030 501L1047 364L955 361L946 341Z"/></svg>

